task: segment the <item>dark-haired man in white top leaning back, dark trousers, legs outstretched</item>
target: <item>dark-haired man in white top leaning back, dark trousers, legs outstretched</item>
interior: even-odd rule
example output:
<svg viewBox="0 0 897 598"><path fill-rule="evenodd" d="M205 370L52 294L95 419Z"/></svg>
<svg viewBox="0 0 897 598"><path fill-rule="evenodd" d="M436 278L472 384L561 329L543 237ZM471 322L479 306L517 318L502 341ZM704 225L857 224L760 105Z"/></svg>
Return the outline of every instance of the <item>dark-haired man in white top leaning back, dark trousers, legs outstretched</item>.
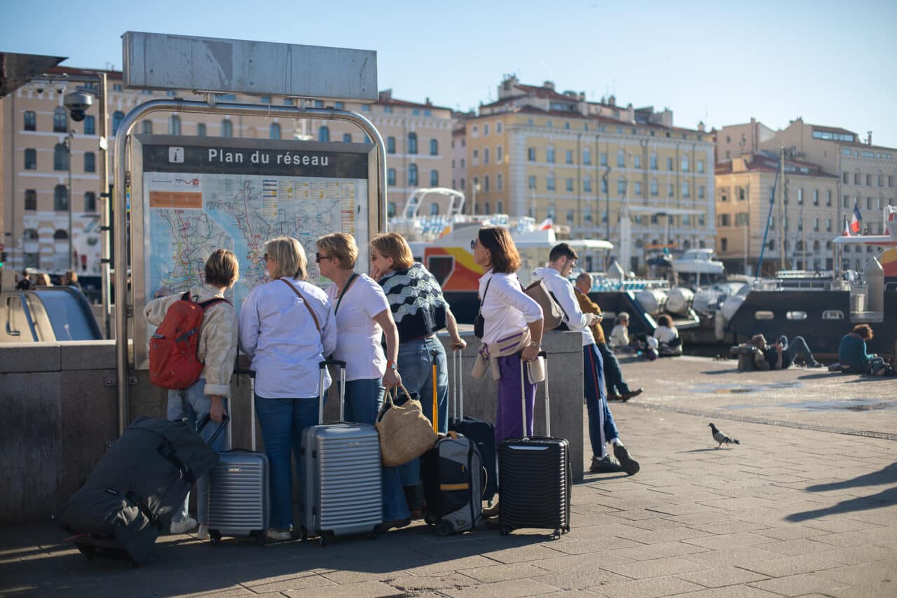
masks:
<svg viewBox="0 0 897 598"><path fill-rule="evenodd" d="M573 285L567 279L578 258L572 247L560 243L548 255L548 267L536 268L533 278L544 282L554 299L557 299L564 311L564 323L570 330L582 334L582 386L588 410L588 438L592 445L589 471L618 472L623 469L629 475L634 475L639 471L639 463L632 459L620 441L614 416L607 406L604 362L595 344L595 337L588 329L589 325L597 321L597 316L582 313L573 293ZM605 445L608 442L614 445L614 455L619 463L607 454Z"/></svg>

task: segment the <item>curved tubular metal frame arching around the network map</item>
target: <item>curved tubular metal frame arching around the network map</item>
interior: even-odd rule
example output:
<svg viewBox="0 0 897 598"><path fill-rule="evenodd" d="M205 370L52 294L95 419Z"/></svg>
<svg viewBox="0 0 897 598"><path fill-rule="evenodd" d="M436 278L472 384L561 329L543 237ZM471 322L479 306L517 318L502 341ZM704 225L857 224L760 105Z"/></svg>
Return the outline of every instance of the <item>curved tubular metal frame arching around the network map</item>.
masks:
<svg viewBox="0 0 897 598"><path fill-rule="evenodd" d="M214 106L195 100L152 100L136 106L118 125L113 148L114 181L113 205L115 211L115 324L116 324L116 387L118 391L118 433L127 428L127 386L128 386L128 338L127 338L127 211L125 209L126 141L131 129L141 118L153 112L186 112L190 114L218 114L239 116L263 116L283 118L318 118L322 120L344 120L361 128L377 146L379 168L377 169L377 199L380 204L379 230L384 230L387 222L387 152L377 127L365 117L354 112L335 108L296 108L293 106L272 106L257 104L216 103Z"/></svg>

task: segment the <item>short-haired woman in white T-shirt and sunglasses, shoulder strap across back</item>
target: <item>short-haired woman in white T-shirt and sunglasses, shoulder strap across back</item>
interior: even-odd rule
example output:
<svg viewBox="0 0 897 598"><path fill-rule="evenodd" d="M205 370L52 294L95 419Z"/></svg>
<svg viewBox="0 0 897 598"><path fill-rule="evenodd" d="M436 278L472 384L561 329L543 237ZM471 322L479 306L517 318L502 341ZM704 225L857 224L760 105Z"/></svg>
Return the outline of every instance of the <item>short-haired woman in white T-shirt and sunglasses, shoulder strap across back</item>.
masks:
<svg viewBox="0 0 897 598"><path fill-rule="evenodd" d="M358 245L352 235L336 232L318 238L317 245L318 269L334 282L325 292L334 306L339 332L333 357L346 364L344 420L373 424L385 387L402 382L396 368L396 322L383 288L367 274L353 272ZM380 346L384 333L387 355ZM384 467L383 528L406 525L409 515L398 468Z"/></svg>

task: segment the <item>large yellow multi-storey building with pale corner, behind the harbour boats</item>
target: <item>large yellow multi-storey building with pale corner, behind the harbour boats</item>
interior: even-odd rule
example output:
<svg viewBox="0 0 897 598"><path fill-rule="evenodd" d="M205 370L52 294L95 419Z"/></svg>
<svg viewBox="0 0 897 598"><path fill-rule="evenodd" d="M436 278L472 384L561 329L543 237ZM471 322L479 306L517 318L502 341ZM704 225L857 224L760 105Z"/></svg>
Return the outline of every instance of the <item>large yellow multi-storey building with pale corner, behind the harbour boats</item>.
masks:
<svg viewBox="0 0 897 598"><path fill-rule="evenodd" d="M613 97L588 102L552 82L510 76L497 101L461 124L466 186L457 188L475 212L551 218L573 237L615 245L628 212L632 269L664 245L714 245L713 143L701 130L672 126L669 110L618 107Z"/></svg>

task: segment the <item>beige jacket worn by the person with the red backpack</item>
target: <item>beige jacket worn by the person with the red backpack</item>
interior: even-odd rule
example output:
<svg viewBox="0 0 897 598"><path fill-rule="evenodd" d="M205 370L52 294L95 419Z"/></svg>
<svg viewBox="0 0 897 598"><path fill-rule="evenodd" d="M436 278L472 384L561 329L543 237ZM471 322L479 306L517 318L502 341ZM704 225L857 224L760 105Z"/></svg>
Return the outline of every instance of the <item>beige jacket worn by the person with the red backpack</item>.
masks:
<svg viewBox="0 0 897 598"><path fill-rule="evenodd" d="M146 322L161 325L169 306L178 301L183 293L152 299L144 309ZM197 303L224 293L209 284L190 288L190 299ZM216 303L205 310L203 324L199 327L199 348L196 358L202 361L205 378L204 394L230 396L233 363L237 358L237 310L230 303Z"/></svg>

